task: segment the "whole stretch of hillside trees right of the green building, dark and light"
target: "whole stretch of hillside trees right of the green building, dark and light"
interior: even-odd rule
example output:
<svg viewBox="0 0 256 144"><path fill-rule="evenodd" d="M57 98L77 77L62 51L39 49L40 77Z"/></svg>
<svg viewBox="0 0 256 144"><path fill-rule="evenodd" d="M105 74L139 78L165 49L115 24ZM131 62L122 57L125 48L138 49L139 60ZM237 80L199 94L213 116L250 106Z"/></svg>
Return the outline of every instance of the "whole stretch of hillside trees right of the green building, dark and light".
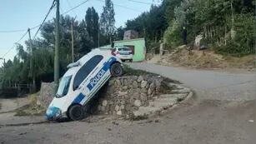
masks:
<svg viewBox="0 0 256 144"><path fill-rule="evenodd" d="M163 0L149 12L129 20L126 29L146 37L148 46L162 38L169 48L193 43L199 34L203 44L235 57L255 52L255 0Z"/></svg>

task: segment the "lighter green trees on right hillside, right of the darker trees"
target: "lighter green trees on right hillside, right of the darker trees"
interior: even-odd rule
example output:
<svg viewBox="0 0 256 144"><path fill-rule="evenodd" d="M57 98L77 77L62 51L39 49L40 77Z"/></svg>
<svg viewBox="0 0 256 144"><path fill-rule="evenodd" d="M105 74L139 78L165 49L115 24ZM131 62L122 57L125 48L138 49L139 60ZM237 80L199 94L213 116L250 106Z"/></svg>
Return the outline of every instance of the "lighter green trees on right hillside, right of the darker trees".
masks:
<svg viewBox="0 0 256 144"><path fill-rule="evenodd" d="M174 0L167 0L170 2ZM183 0L174 8L164 37L169 47L193 42L201 34L208 46L224 55L255 52L255 0Z"/></svg>

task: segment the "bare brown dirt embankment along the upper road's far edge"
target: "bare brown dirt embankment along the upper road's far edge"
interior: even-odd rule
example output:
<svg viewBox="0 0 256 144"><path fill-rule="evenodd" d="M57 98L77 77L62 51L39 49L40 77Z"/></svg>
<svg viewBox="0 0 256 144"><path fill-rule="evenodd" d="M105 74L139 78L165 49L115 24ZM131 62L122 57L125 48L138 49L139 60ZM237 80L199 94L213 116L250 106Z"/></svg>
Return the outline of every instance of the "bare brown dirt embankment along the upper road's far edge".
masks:
<svg viewBox="0 0 256 144"><path fill-rule="evenodd" d="M185 46L178 47L173 53L160 58L159 64L168 66L205 68L205 69L246 69L255 71L255 56L222 56L211 50L188 51Z"/></svg>

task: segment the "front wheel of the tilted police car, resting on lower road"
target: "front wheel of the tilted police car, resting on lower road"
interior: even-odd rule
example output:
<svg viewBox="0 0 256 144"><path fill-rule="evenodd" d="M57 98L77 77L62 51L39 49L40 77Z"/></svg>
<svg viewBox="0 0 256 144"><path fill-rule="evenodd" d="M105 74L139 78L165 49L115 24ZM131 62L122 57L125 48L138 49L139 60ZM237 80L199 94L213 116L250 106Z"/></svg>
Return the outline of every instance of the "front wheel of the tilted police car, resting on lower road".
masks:
<svg viewBox="0 0 256 144"><path fill-rule="evenodd" d="M73 105L68 110L68 117L73 121L82 120L84 117L83 107L80 105Z"/></svg>

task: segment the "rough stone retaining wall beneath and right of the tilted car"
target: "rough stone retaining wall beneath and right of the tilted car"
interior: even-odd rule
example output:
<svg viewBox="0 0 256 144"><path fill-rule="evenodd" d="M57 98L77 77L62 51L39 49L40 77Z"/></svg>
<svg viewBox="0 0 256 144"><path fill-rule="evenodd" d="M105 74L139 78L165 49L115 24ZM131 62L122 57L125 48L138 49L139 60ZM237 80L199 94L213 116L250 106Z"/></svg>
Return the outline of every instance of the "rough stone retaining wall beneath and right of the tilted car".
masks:
<svg viewBox="0 0 256 144"><path fill-rule="evenodd" d="M98 113L129 118L138 107L148 106L158 97L163 77L114 77L100 94Z"/></svg>

